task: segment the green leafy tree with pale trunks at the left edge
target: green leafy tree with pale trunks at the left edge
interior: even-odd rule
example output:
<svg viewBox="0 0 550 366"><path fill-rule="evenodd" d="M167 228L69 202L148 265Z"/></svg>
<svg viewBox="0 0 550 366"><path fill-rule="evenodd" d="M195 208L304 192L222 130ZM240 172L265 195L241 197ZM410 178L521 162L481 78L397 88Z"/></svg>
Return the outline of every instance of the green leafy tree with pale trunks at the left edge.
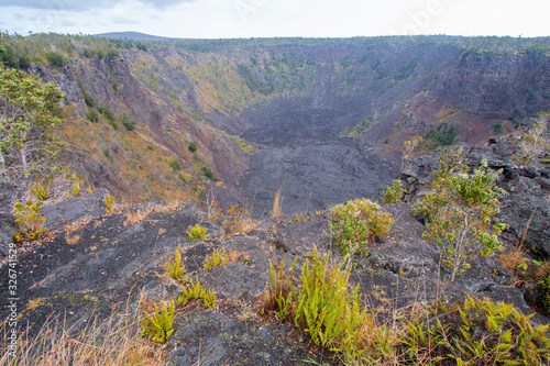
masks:
<svg viewBox="0 0 550 366"><path fill-rule="evenodd" d="M43 167L63 145L52 132L63 93L52 82L0 67L0 177L16 179Z"/></svg>

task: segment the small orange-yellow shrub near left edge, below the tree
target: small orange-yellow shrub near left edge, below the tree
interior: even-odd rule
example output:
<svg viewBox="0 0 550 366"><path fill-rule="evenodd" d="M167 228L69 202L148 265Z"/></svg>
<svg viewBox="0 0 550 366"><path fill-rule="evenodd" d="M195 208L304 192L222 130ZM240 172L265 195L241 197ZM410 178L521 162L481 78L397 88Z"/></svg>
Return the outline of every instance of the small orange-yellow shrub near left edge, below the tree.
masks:
<svg viewBox="0 0 550 366"><path fill-rule="evenodd" d="M42 236L44 228L42 223L46 221L44 213L40 213L40 208L43 202L37 201L34 203L32 200L25 202L15 202L15 223L19 225L20 232L15 234L18 241L34 241Z"/></svg>

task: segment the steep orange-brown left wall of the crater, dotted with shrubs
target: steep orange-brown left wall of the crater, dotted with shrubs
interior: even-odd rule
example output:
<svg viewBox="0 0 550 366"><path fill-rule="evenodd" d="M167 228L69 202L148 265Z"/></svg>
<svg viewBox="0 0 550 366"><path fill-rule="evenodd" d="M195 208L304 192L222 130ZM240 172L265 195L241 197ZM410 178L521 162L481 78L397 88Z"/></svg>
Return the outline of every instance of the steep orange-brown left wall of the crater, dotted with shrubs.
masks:
<svg viewBox="0 0 550 366"><path fill-rule="evenodd" d="M226 178L239 173L226 138L155 96L123 59L79 58L63 69L37 65L31 73L65 92L61 135L69 144L63 156L96 187L128 201L191 201L209 185L206 169ZM87 118L90 111L99 121Z"/></svg>

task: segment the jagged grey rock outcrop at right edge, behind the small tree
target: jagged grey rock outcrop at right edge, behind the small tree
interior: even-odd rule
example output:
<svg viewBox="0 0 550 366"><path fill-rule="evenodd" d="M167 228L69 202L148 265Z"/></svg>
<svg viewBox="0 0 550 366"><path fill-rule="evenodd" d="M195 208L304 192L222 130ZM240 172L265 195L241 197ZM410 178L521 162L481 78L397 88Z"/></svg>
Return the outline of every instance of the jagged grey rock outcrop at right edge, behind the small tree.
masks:
<svg viewBox="0 0 550 366"><path fill-rule="evenodd" d="M512 135L491 138L484 146L458 146L464 151L464 164L477 167L486 159L492 169L503 169L497 184L508 196L502 199L498 217L510 225L503 234L506 242L518 245L525 235L526 249L539 257L550 257L550 166L542 163L519 166L512 159L518 152ZM406 184L407 201L417 202L430 190L432 170L438 167L438 154L405 159L402 180Z"/></svg>

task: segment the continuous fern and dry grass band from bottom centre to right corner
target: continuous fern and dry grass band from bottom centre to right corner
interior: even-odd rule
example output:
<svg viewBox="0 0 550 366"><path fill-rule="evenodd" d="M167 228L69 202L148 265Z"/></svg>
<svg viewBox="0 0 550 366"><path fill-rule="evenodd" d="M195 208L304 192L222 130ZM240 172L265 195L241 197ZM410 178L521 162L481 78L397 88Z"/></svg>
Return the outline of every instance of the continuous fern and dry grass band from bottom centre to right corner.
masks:
<svg viewBox="0 0 550 366"><path fill-rule="evenodd" d="M542 365L550 361L548 325L532 328L513 304L466 296L462 303L411 307L380 322L363 308L350 266L334 265L317 249L299 280L271 265L261 313L294 322L349 365ZM297 284L297 285L294 285ZM419 310L421 309L421 310Z"/></svg>

